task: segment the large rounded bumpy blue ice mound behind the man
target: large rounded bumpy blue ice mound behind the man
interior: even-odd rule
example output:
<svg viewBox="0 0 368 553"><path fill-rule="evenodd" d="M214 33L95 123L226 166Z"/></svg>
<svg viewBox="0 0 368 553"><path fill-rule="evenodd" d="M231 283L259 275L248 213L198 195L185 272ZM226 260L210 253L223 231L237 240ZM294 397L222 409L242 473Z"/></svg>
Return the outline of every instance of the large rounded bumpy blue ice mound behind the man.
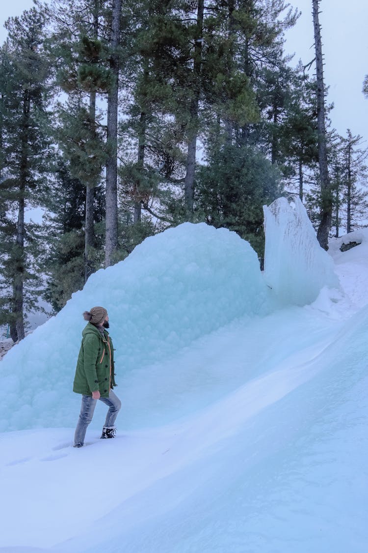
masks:
<svg viewBox="0 0 368 553"><path fill-rule="evenodd" d="M3 359L0 431L75 424L79 397L71 389L84 310L108 309L119 384L119 374L259 314L267 294L257 255L234 232L184 223L147 238L123 262L90 276Z"/></svg>

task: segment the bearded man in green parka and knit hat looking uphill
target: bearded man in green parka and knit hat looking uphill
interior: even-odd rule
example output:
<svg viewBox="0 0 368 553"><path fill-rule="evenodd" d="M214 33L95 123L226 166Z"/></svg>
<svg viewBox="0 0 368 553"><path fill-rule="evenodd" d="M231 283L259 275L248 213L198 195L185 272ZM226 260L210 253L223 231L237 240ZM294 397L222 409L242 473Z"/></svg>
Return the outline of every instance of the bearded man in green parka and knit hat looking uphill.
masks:
<svg viewBox="0 0 368 553"><path fill-rule="evenodd" d="M121 403L113 392L115 383L114 348L106 328L109 328L109 316L104 307L92 307L84 311L84 320L88 321L82 332L82 345L79 350L73 392L82 394L81 414L79 415L74 447L82 447L87 426L93 417L97 400L109 406L102 438L116 435L115 420Z"/></svg>

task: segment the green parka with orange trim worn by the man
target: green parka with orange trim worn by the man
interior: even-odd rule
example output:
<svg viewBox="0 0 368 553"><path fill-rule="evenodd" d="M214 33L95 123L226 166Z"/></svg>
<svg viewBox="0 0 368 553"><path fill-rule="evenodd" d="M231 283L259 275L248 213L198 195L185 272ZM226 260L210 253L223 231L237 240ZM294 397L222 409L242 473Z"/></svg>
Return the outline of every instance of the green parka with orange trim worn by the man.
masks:
<svg viewBox="0 0 368 553"><path fill-rule="evenodd" d="M73 392L92 395L100 391L102 398L108 398L110 389L116 386L114 378L114 348L108 331L104 336L90 322L82 332Z"/></svg>

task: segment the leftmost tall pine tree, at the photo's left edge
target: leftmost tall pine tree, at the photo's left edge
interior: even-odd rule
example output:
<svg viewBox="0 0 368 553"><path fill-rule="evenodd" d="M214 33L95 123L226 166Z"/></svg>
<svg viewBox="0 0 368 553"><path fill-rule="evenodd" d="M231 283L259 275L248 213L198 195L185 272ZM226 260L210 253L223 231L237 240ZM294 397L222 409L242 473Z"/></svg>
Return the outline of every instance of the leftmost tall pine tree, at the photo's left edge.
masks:
<svg viewBox="0 0 368 553"><path fill-rule="evenodd" d="M8 39L1 49L1 194L6 200L7 251L2 276L11 293L2 299L2 322L10 324L14 341L24 338L24 311L35 306L28 284L35 278L28 253L31 228L25 210L42 186L49 151L47 138L47 64L42 41L45 13L32 8L6 22ZM7 288L9 290L9 288Z"/></svg>

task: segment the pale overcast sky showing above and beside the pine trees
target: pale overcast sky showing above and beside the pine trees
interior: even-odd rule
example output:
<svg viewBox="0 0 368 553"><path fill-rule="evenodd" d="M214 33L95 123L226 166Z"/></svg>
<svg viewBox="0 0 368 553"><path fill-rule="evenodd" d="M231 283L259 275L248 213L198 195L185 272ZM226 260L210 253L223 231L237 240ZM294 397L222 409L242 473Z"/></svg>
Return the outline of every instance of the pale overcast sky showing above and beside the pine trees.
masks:
<svg viewBox="0 0 368 553"><path fill-rule="evenodd" d="M291 0L302 15L287 32L286 51L295 53L295 63L314 58L312 0ZM2 0L0 10L0 43L6 38L3 23L33 6L32 0ZM368 140L368 100L362 95L362 81L368 73L368 2L366 0L321 0L320 23L324 53L324 80L329 85L328 101L334 103L330 113L333 127L345 135L350 128ZM312 69L314 71L314 69Z"/></svg>

